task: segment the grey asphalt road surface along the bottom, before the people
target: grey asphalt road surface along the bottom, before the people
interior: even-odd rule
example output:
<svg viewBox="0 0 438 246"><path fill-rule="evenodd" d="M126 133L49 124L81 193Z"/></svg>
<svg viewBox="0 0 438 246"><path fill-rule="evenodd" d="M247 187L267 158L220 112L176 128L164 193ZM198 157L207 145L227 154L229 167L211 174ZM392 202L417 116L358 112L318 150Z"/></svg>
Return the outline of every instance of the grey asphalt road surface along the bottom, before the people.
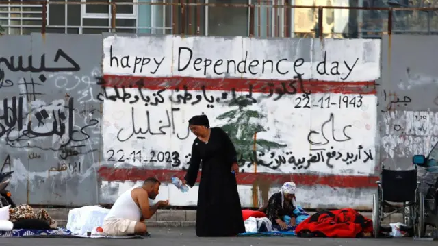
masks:
<svg viewBox="0 0 438 246"><path fill-rule="evenodd" d="M0 238L0 245L160 245L160 246L370 246L370 245L437 245L436 241L414 241L413 238L296 238L296 237L233 237L198 238L194 228L150 228L151 237L144 239L88 239L88 238Z"/></svg>

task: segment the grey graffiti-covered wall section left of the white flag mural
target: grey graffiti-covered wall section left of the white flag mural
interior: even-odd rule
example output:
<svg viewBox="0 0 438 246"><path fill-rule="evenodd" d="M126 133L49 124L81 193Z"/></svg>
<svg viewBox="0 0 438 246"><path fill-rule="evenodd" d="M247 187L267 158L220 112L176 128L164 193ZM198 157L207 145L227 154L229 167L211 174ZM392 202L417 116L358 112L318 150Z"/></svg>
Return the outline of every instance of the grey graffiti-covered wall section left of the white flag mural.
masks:
<svg viewBox="0 0 438 246"><path fill-rule="evenodd" d="M14 171L14 199L96 203L101 36L4 36L0 47L1 171Z"/></svg>

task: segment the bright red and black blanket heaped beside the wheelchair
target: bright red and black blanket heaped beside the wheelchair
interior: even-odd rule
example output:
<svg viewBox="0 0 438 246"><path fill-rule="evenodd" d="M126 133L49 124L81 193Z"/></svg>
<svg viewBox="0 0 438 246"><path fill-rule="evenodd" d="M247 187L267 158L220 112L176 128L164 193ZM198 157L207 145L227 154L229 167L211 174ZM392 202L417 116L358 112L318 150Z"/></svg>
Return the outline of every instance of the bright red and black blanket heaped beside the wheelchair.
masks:
<svg viewBox="0 0 438 246"><path fill-rule="evenodd" d="M317 212L295 230L297 236L329 238L355 238L371 232L372 220L351 208Z"/></svg>

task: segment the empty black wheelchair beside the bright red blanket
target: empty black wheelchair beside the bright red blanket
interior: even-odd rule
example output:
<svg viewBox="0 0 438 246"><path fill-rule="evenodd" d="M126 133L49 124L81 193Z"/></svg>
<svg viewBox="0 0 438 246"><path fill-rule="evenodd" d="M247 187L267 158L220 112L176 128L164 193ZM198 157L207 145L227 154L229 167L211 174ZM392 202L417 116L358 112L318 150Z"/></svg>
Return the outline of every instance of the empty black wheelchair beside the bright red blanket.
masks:
<svg viewBox="0 0 438 246"><path fill-rule="evenodd" d="M403 214L404 223L413 227L415 236L422 238L426 234L424 215L424 194L417 181L417 169L407 171L383 170L381 180L377 181L377 192L372 199L373 234L377 238L381 222L396 212ZM402 203L397 206L390 203ZM393 209L385 215L385 208Z"/></svg>

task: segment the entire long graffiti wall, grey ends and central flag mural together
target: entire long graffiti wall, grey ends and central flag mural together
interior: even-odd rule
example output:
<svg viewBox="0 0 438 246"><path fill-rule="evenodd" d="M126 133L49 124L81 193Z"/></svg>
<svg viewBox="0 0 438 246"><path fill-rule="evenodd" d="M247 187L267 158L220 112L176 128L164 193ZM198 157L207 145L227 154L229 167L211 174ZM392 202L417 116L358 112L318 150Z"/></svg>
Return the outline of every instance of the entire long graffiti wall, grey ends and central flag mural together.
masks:
<svg viewBox="0 0 438 246"><path fill-rule="evenodd" d="M2 169L20 203L108 204L155 176L158 199L194 206L196 186L168 182L183 177L187 121L203 113L240 153L243 206L293 180L302 206L370 208L381 164L409 168L438 132L433 39L5 36Z"/></svg>

